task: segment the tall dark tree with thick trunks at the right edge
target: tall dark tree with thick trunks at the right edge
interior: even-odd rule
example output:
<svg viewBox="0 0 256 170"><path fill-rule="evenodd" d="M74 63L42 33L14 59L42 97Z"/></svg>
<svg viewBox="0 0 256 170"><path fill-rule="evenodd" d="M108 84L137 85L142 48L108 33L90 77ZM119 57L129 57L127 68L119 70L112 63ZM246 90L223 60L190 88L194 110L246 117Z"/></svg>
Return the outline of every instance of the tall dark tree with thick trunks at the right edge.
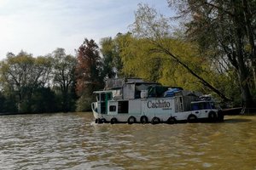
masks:
<svg viewBox="0 0 256 170"><path fill-rule="evenodd" d="M254 82L255 89L255 0L168 2L171 7L179 8L181 17L189 16L185 26L190 40L200 44L203 52L215 49L213 59L232 65L243 104L253 106L250 83Z"/></svg>

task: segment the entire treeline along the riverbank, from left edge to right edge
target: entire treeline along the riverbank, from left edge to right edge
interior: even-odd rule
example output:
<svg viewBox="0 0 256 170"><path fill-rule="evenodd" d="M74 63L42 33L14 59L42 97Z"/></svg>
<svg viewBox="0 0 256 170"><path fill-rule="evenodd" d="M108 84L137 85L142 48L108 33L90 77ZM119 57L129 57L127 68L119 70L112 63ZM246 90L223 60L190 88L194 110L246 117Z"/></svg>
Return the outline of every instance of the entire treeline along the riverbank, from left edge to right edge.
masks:
<svg viewBox="0 0 256 170"><path fill-rule="evenodd" d="M139 4L127 33L85 38L76 56L7 54L0 65L0 112L88 111L111 77L141 77L252 107L256 94L255 1L172 1L170 18ZM174 20L174 19L172 19Z"/></svg>

